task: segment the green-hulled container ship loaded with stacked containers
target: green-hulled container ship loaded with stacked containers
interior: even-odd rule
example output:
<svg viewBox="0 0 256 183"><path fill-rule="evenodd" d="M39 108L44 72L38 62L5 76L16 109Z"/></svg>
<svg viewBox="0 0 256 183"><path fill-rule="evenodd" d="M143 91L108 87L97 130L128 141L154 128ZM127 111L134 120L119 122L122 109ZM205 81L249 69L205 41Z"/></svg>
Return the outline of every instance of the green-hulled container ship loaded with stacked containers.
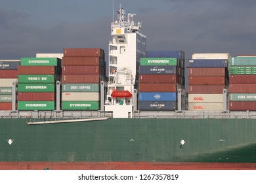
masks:
<svg viewBox="0 0 256 183"><path fill-rule="evenodd" d="M256 169L256 57L148 51L117 16L107 64L0 60L0 169Z"/></svg>

